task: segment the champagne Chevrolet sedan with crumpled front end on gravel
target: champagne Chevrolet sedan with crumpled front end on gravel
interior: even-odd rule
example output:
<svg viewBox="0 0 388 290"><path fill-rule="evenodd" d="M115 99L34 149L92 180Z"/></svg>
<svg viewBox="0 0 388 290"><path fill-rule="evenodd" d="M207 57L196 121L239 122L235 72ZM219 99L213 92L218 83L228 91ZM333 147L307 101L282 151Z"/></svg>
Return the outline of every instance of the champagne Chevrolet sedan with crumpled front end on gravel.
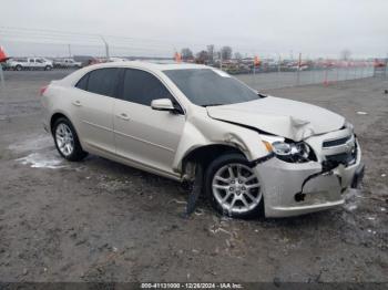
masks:
<svg viewBox="0 0 388 290"><path fill-rule="evenodd" d="M345 203L364 174L353 125L257 93L205 65L95 64L41 90L44 127L69 160L93 153L197 182L219 213L267 217Z"/></svg>

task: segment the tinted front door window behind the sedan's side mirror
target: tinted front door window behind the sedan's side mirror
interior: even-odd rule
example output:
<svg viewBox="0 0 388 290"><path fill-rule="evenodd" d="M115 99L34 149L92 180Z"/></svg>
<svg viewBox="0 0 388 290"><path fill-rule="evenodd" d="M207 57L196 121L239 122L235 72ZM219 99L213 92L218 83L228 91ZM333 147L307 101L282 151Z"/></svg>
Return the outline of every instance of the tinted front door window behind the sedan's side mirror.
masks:
<svg viewBox="0 0 388 290"><path fill-rule="evenodd" d="M126 69L124 73L123 99L129 102L151 105L156 99L173 99L169 90L151 73Z"/></svg>

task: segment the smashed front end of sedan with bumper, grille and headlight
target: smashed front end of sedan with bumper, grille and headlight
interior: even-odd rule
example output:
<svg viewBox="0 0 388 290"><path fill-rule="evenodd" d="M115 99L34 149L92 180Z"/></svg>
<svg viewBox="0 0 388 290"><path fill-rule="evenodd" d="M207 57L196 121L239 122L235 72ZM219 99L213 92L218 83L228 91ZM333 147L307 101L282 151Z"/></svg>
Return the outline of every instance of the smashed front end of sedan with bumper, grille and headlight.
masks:
<svg viewBox="0 0 388 290"><path fill-rule="evenodd" d="M353 127L294 143L262 135L276 158L255 166L262 182L267 217L296 216L344 204L349 187L364 175L361 153Z"/></svg>

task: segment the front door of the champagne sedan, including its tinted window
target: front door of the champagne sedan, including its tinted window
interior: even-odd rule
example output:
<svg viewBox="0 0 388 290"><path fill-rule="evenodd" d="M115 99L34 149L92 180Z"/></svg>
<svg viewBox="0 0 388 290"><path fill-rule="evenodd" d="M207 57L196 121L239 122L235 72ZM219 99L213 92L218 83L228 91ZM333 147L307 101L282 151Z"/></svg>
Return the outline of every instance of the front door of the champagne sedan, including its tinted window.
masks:
<svg viewBox="0 0 388 290"><path fill-rule="evenodd" d="M171 92L150 72L125 69L121 99L114 102L116 153L149 168L172 174L185 116L151 107L152 100L156 99L171 99L174 103Z"/></svg>

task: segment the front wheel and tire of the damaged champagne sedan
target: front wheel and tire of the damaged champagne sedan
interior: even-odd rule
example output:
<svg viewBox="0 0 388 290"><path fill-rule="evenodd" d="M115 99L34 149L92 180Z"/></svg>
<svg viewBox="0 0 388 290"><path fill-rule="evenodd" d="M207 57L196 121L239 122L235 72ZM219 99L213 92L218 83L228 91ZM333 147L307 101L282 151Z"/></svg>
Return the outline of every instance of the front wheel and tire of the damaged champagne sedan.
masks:
<svg viewBox="0 0 388 290"><path fill-rule="evenodd" d="M211 205L222 215L246 218L263 211L259 179L242 154L228 153L214 159L206 168L204 187Z"/></svg>

